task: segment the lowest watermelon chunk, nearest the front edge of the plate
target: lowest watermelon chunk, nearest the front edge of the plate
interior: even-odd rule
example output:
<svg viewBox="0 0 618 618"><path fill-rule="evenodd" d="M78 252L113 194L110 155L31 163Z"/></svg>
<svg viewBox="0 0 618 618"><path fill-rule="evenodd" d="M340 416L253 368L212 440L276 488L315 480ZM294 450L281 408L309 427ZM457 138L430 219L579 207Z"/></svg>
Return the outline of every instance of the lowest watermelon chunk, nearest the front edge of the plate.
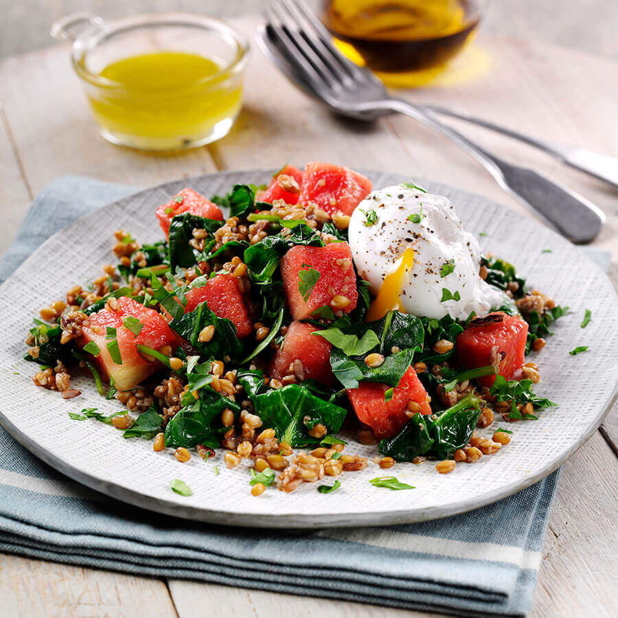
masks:
<svg viewBox="0 0 618 618"><path fill-rule="evenodd" d="M409 401L420 405L421 414L431 414L427 391L412 367L393 389L391 400L385 401L384 393L389 388L378 382L361 382L358 389L347 389L347 397L358 420L369 425L380 439L393 437L408 422L406 410Z"/></svg>

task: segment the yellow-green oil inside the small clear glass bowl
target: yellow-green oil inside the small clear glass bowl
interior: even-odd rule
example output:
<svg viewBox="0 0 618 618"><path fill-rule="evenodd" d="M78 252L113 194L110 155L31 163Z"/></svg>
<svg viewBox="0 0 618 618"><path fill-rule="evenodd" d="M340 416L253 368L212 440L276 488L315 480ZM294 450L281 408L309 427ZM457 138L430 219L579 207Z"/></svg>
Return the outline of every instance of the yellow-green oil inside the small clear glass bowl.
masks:
<svg viewBox="0 0 618 618"><path fill-rule="evenodd" d="M148 150L206 144L228 132L241 107L240 83L209 58L185 52L130 56L99 73L89 92L104 137Z"/></svg>

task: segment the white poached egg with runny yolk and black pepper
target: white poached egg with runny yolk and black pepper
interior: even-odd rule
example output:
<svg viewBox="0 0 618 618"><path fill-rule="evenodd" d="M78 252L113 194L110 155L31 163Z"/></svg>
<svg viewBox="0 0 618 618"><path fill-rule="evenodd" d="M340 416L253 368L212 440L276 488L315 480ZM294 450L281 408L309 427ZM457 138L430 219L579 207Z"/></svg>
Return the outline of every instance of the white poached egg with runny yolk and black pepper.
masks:
<svg viewBox="0 0 618 618"><path fill-rule="evenodd" d="M367 320L391 309L466 319L507 301L479 277L479 242L444 196L411 183L374 191L354 209L348 236L358 274L375 297Z"/></svg>

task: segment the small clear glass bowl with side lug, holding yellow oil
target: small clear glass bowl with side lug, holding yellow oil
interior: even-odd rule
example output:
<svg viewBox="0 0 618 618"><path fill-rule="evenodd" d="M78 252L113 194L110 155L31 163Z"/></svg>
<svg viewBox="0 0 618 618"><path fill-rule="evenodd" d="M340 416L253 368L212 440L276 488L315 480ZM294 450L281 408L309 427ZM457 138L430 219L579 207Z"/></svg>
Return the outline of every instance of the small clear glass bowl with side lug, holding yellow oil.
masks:
<svg viewBox="0 0 618 618"><path fill-rule="evenodd" d="M226 135L242 108L249 45L217 19L160 13L110 23L80 13L54 24L52 36L73 40L73 68L101 135L113 144L140 150L203 146ZM100 74L119 60L159 52L196 54L219 69L172 89L115 82Z"/></svg>

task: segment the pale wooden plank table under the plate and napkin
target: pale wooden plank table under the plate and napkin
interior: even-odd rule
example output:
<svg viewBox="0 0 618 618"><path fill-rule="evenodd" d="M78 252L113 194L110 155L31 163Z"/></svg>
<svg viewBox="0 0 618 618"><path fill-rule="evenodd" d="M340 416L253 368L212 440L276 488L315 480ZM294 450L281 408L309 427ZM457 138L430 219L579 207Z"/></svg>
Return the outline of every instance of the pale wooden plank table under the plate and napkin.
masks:
<svg viewBox="0 0 618 618"><path fill-rule="evenodd" d="M255 20L239 24L250 33ZM618 155L617 63L505 38L481 37L476 51L488 59L484 73L467 82L409 93L410 98L440 102L541 139ZM98 137L69 66L67 47L4 60L0 84L0 254L10 246L34 195L69 173L146 186L216 170L324 159L435 179L522 209L448 141L403 117L374 125L335 119L293 89L256 49L247 71L244 111L231 134L206 148L166 157L116 148ZM606 211L607 225L594 246L612 252L610 277L617 284L618 192L531 148L481 129L462 128L505 158L566 181ZM615 408L563 466L532 616L602 617L615 611L617 437ZM192 617L196 608L203 608L212 617L426 616L10 555L0 555L0 599L0 615Z"/></svg>

